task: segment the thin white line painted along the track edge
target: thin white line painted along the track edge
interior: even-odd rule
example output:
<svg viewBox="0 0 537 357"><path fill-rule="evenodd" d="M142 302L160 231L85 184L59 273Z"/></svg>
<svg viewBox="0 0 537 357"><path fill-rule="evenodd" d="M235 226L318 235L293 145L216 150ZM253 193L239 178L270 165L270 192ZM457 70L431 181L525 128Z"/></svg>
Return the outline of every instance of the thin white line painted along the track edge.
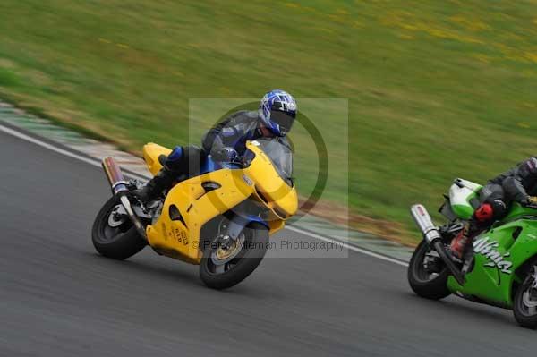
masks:
<svg viewBox="0 0 537 357"><path fill-rule="evenodd" d="M49 149L51 151L55 151L57 152L58 154L61 154L61 155L64 155L66 157L72 157L72 158L75 158L77 160L80 160L80 161L83 161L85 162L86 164L90 164L91 166L97 166L97 167L101 167L101 164L100 162L97 160L97 159L90 159L88 157L83 157L81 155L78 155L78 154L75 154L71 151L68 151L68 150L65 150L65 149L61 149L61 148L58 148L54 145L51 145L45 141L42 141L42 140L38 140L36 138L33 138L31 137L30 135L26 135L22 132L18 132L16 130L13 130L11 128L8 128L2 124L0 124L0 132L5 132L6 134L9 134L9 135L12 135L16 138L19 138L21 140L25 140L25 141L28 141L28 142L31 142L32 144L35 144L35 145L38 145L40 146L41 148L45 148L45 149ZM139 178L145 178L147 179L148 177L147 176L143 176L143 175L140 175L140 174L127 174L127 175L135 175L135 176L138 176ZM384 255L381 255L381 254L378 254L378 253L375 253L373 251L367 251L367 250L364 250L362 248L358 248L354 245L350 245L350 244L347 244L345 242L342 242L342 241L339 241L339 240L335 240L335 239L331 239L331 238L328 238L328 237L324 237L320 234L313 234L311 232L308 232L308 231L304 231L300 228L296 228L294 226L291 226L291 225L287 225L286 226L286 229L290 230L290 231L294 231L296 233L299 233L299 234L304 234L304 235L308 235L310 236L311 238L315 238L315 239L319 239L320 241L324 241L324 242L334 242L334 243L337 243L337 244L341 244L342 246L344 246L346 249L348 250L351 250L351 251L356 251L356 252L359 252L359 253L362 253L362 254L365 254L365 255L368 255L370 257L373 257L373 258L377 258L377 259L381 259L381 260L385 260L385 261L389 261L391 263L394 263L394 264L397 264L397 265L400 265L400 266L403 266L403 267L408 267L408 263L405 263L404 261L401 261L401 260L398 260L398 259L393 259L393 258L389 258L389 257L386 257Z"/></svg>

